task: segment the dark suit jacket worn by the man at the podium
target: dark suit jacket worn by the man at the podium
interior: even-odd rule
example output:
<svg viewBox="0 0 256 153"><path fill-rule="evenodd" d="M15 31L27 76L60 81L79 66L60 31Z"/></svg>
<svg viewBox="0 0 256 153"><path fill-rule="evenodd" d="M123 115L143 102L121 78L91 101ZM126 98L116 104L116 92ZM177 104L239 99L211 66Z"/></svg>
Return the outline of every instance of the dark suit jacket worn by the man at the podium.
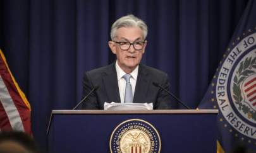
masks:
<svg viewBox="0 0 256 153"><path fill-rule="evenodd" d="M154 109L170 109L169 94L154 86L152 82L157 82L169 90L168 74L140 64L133 103L153 103ZM87 95L95 86L99 86L99 88L83 101L82 109L103 110L104 102L120 103L115 62L106 67L85 72L83 96Z"/></svg>

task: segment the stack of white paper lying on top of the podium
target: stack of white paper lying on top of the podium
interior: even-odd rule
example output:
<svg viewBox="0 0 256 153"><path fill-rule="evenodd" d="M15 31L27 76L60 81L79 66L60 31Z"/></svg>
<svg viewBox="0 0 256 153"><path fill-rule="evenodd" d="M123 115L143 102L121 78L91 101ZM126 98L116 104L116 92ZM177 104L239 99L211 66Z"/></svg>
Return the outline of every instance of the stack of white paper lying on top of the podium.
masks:
<svg viewBox="0 0 256 153"><path fill-rule="evenodd" d="M153 103L104 103L104 110L153 110Z"/></svg>

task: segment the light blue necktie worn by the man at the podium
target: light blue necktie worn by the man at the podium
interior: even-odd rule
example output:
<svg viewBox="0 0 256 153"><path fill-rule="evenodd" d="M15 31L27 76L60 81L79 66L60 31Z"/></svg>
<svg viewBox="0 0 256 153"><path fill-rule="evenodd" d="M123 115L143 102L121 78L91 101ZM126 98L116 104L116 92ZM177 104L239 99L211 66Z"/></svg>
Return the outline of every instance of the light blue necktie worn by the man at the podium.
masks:
<svg viewBox="0 0 256 153"><path fill-rule="evenodd" d="M125 86L125 103L133 103L133 91L131 89L131 82L130 82L130 78L131 75L130 74L125 74L123 76L123 78L126 81L126 86Z"/></svg>

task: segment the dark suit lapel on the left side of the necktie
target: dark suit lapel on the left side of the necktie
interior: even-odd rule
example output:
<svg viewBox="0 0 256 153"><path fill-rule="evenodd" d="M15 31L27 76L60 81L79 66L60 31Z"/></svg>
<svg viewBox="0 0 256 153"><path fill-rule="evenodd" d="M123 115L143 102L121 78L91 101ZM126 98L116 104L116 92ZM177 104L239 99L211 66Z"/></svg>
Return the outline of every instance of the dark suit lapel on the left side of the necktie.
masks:
<svg viewBox="0 0 256 153"><path fill-rule="evenodd" d="M103 77L107 98L109 101L107 102L116 102L120 103L119 89L118 89L118 77L116 75L116 67L115 64L111 64L109 69L105 71L105 76Z"/></svg>

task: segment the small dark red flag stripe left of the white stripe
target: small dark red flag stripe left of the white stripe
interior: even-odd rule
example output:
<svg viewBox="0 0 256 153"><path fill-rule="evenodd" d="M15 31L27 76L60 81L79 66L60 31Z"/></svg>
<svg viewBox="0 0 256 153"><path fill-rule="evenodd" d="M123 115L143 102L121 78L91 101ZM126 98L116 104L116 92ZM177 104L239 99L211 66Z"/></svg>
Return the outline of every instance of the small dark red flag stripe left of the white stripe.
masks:
<svg viewBox="0 0 256 153"><path fill-rule="evenodd" d="M0 101L0 129L1 130L11 130L11 124L9 123L9 118L6 115L6 111L4 110L4 106L2 105L2 102Z"/></svg>

